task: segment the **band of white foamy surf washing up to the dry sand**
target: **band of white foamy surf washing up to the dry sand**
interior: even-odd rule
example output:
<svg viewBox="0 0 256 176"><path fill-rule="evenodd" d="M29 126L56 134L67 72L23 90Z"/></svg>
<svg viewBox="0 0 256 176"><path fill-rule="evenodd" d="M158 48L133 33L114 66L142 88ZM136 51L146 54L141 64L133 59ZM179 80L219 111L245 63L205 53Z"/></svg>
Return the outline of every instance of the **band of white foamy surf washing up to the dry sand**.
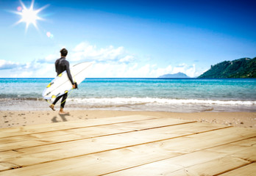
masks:
<svg viewBox="0 0 256 176"><path fill-rule="evenodd" d="M161 98L68 98L70 111L168 111L168 112L256 112L253 100L172 100ZM57 103L56 109L60 108ZM0 111L49 111L49 103L38 99L0 98Z"/></svg>

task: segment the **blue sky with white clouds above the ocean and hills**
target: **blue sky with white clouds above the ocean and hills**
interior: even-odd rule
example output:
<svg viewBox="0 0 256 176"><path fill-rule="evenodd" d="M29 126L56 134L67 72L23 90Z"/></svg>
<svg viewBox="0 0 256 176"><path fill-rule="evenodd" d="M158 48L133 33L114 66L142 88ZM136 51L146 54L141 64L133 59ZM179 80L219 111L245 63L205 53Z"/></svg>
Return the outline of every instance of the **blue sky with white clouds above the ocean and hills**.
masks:
<svg viewBox="0 0 256 176"><path fill-rule="evenodd" d="M35 23L23 20L29 7ZM255 9L253 0L1 0L0 78L54 78L61 48L71 66L93 62L90 78L197 77L256 56Z"/></svg>

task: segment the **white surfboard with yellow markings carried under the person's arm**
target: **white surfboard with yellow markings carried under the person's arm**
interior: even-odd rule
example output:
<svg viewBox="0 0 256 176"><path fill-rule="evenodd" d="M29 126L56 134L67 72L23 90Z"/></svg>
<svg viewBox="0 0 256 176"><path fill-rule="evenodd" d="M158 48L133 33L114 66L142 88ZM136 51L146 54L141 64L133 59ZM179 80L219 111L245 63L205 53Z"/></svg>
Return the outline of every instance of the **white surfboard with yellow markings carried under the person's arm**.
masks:
<svg viewBox="0 0 256 176"><path fill-rule="evenodd" d="M77 82L77 85L85 80L87 75L86 69L90 65L92 65L92 62L82 62L70 68L73 81ZM66 71L63 71L63 73L60 73L60 75L48 84L43 90L42 95L45 100L51 100L69 92L71 89L73 88L68 74Z"/></svg>

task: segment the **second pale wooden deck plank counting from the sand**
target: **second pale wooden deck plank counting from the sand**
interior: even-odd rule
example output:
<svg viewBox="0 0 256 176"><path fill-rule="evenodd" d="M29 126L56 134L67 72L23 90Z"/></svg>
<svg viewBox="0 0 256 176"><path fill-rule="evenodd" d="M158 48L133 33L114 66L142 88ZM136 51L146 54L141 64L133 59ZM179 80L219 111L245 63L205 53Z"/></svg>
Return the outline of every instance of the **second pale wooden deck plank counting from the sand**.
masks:
<svg viewBox="0 0 256 176"><path fill-rule="evenodd" d="M117 133L128 133L132 131L143 131L151 128L181 125L190 123L186 120L171 118L138 120L133 122L122 122L110 125L99 125L93 127L66 129L62 131L49 131L45 133L32 133L22 136L13 136L0 139L0 151L17 150L24 147L35 147L43 144L54 144L56 142L68 142L80 139L88 139L99 136L108 136ZM217 125L218 126L218 125ZM219 125L219 127L222 127Z"/></svg>

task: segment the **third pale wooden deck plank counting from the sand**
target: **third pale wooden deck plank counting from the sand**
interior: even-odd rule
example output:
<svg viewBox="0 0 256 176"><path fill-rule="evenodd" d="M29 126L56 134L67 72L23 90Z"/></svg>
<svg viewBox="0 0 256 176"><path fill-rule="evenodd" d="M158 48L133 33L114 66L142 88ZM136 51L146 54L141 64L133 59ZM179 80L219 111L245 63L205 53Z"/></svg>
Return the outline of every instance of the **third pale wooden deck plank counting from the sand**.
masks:
<svg viewBox="0 0 256 176"><path fill-rule="evenodd" d="M112 136L82 139L74 142L48 144L38 147L27 147L19 150L8 150L1 152L0 162L12 163L15 164L15 166L31 166L43 162L57 161L64 158L74 158L80 155L88 155L90 153L99 153L102 151L115 150L138 144L159 142L162 140L173 139L181 136L188 137L188 135L202 133L205 131L213 132L213 130L219 128L219 125L193 123L193 125L175 125L170 127L149 129L146 131L135 131ZM232 133L233 135L231 136L235 136L235 138L239 137L240 139L244 138L244 136L252 135L249 131L246 130L241 131L239 135L238 133L234 133L232 130L224 129L223 131L224 132L222 133ZM177 152L179 152L179 149Z"/></svg>

